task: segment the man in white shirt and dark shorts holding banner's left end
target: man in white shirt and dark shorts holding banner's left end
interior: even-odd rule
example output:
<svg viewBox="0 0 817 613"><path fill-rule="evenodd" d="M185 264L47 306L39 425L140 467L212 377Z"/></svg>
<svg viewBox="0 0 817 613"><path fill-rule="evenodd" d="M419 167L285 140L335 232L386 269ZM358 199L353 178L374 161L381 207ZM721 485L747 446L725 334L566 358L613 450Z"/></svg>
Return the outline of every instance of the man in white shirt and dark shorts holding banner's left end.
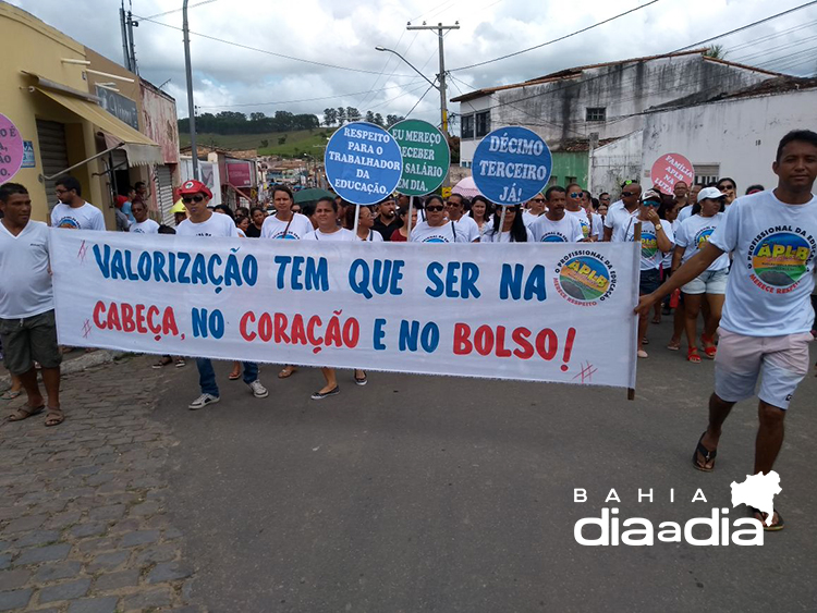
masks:
<svg viewBox="0 0 817 613"><path fill-rule="evenodd" d="M42 413L46 426L65 418L60 407L60 363L48 256L48 226L32 221L32 199L19 183L0 186L0 338L5 367L20 378L28 402L9 416L20 421ZM48 396L37 384L39 363Z"/></svg>

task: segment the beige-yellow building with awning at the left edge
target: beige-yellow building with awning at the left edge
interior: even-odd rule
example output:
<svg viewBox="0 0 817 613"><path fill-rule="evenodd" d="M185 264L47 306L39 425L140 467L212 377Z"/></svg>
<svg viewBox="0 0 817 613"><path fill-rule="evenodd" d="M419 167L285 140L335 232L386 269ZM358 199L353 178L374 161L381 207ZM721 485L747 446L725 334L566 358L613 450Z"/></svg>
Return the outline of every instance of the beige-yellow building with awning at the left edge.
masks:
<svg viewBox="0 0 817 613"><path fill-rule="evenodd" d="M9 42L0 63L0 113L29 152L4 180L28 188L33 218L48 218L57 203L54 181L66 174L80 181L83 198L102 210L109 229L115 226L114 196L137 181L153 187L156 208L157 169L173 160L141 132L146 121L138 76L2 1L0 40Z"/></svg>

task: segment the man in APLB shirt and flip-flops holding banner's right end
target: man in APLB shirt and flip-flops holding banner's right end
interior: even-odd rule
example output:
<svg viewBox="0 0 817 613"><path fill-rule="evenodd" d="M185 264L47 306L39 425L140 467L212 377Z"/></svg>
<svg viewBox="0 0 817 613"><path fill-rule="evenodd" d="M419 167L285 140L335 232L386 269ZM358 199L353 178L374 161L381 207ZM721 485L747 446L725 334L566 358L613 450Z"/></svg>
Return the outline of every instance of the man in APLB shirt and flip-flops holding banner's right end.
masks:
<svg viewBox="0 0 817 613"><path fill-rule="evenodd" d="M656 302L731 253L732 270L720 320L715 361L715 393L709 425L698 440L693 464L715 469L718 443L729 412L755 395L760 379L754 473L769 473L783 444L789 402L808 373L817 253L817 133L786 134L771 165L778 186L735 200L704 245L658 290L642 296L636 311L648 314ZM779 530L783 518L753 508L766 530Z"/></svg>

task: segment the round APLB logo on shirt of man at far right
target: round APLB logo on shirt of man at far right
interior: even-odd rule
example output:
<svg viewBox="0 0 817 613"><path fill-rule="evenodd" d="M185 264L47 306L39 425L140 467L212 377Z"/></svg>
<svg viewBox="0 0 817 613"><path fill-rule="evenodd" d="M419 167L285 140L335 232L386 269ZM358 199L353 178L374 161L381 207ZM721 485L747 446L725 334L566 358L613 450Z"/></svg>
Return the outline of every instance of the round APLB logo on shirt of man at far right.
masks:
<svg viewBox="0 0 817 613"><path fill-rule="evenodd" d="M814 253L814 238L801 229L776 229L761 233L749 245L748 268L752 280L769 293L784 294L794 290L808 270Z"/></svg>

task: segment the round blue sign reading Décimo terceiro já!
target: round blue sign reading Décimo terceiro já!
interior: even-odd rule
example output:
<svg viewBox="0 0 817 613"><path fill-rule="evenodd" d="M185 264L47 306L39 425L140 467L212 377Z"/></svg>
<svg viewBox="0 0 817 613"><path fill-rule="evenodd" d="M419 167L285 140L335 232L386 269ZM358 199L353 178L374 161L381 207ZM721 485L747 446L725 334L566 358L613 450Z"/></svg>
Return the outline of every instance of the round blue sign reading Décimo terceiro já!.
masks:
<svg viewBox="0 0 817 613"><path fill-rule="evenodd" d="M500 127L474 152L474 183L502 206L526 203L548 184L553 161L545 140L526 127Z"/></svg>

